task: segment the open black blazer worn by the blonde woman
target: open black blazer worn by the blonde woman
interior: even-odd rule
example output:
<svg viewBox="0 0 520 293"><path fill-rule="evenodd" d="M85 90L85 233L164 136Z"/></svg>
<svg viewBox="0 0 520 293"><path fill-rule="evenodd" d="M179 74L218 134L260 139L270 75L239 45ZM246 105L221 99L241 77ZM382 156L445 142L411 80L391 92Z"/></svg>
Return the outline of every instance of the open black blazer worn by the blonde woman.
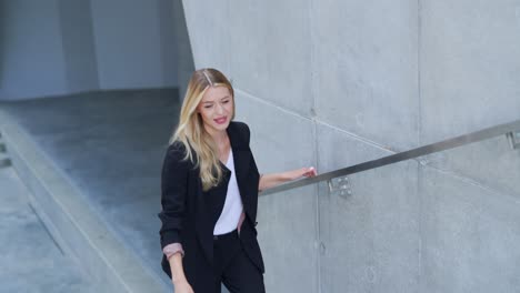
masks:
<svg viewBox="0 0 520 293"><path fill-rule="evenodd" d="M249 148L250 131L243 122L231 121L226 130L231 142L234 170L246 220L240 231L240 241L248 256L264 272L260 246L257 241L258 184L260 174ZM208 192L202 191L199 168L188 159L186 150L174 142L166 153L161 175L162 211L158 214L161 249L170 243L181 243L184 250L182 265L188 282L213 284L213 222ZM162 270L171 277L170 264L162 255ZM194 287L193 287L194 289ZM197 292L197 291L196 291Z"/></svg>

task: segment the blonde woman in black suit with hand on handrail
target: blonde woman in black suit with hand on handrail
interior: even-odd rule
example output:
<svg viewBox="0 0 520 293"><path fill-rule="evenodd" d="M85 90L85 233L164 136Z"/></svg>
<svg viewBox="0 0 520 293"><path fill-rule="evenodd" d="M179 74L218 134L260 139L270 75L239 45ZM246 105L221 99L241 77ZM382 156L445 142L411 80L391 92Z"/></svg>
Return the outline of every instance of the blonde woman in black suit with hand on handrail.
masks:
<svg viewBox="0 0 520 293"><path fill-rule="evenodd" d="M216 69L193 72L161 176L162 269L176 293L264 292L257 241L259 190L313 168L260 175L250 132L234 118L234 94Z"/></svg>

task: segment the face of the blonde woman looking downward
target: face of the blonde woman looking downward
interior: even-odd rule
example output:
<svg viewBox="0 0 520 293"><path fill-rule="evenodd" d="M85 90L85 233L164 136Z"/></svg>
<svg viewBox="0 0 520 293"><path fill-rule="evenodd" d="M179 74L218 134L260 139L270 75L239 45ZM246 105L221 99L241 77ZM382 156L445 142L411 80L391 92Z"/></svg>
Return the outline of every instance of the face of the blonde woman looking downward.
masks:
<svg viewBox="0 0 520 293"><path fill-rule="evenodd" d="M226 87L210 87L197 107L197 112L210 133L226 130L233 110L233 97Z"/></svg>

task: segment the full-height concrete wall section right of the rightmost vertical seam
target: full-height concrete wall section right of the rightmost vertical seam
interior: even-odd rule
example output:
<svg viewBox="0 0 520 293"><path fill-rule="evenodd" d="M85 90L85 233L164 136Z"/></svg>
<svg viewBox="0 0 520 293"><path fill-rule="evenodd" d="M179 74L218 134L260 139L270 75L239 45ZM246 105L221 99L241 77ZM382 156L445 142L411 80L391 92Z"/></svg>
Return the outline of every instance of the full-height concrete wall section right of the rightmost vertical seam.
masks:
<svg viewBox="0 0 520 293"><path fill-rule="evenodd" d="M519 1L426 1L421 26L421 143L520 119ZM428 160L422 289L520 291L520 152L502 137Z"/></svg>

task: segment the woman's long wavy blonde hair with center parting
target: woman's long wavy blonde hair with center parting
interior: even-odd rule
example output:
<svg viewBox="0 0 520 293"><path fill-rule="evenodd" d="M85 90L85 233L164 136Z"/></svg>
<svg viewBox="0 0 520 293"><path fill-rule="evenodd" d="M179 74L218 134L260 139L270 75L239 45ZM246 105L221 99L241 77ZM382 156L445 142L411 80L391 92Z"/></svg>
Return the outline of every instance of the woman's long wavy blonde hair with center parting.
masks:
<svg viewBox="0 0 520 293"><path fill-rule="evenodd" d="M210 87L226 87L232 97L234 119L234 92L231 83L222 72L217 69L206 68L193 72L188 83L188 90L182 102L179 124L170 138L170 144L182 142L187 150L183 160L191 160L196 168L200 166L202 190L208 191L218 185L222 179L222 168L219 164L219 151L217 143L206 131L202 118L197 113L197 107Z"/></svg>

